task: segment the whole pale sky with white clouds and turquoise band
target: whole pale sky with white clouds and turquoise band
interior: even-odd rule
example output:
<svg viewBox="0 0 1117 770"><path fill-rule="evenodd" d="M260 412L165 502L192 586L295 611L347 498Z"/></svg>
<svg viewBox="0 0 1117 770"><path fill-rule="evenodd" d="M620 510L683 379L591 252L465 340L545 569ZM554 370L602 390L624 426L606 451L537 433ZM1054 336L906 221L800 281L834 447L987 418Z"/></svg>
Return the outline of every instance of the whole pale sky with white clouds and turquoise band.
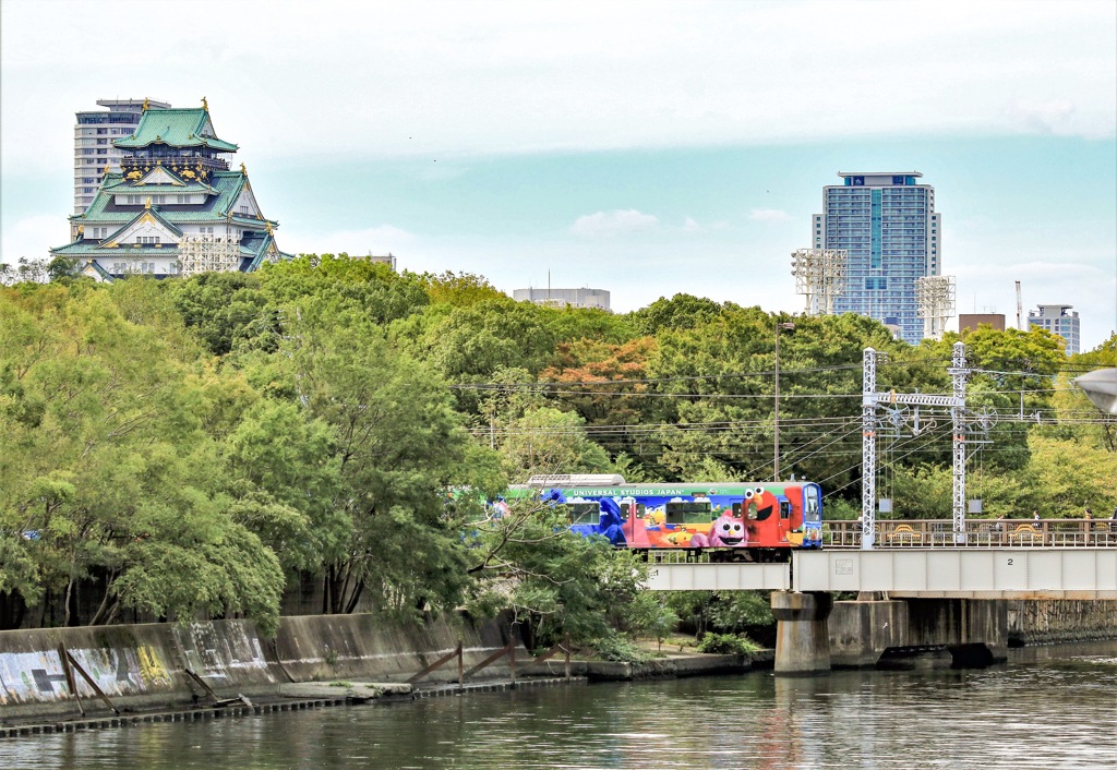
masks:
<svg viewBox="0 0 1117 770"><path fill-rule="evenodd" d="M1117 330L1114 0L0 0L0 51L4 262L68 240L75 112L204 96L286 251L802 312L822 187L919 171L958 312Z"/></svg>

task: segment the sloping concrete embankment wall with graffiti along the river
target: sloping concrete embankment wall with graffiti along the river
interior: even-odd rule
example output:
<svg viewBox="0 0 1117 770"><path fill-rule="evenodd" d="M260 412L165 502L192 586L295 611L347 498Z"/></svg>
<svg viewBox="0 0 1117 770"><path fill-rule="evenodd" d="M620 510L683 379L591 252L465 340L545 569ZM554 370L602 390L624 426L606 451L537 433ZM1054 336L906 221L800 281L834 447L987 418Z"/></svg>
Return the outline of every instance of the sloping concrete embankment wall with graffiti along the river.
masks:
<svg viewBox="0 0 1117 770"><path fill-rule="evenodd" d="M59 645L120 710L187 706L204 690L221 697L275 695L288 682L400 682L462 641L465 667L507 644L497 624L440 621L405 629L373 615L285 617L275 639L247 620L0 631L0 719L76 713ZM507 675L498 662L490 676ZM433 679L457 676L450 664ZM78 672L77 691L103 707Z"/></svg>

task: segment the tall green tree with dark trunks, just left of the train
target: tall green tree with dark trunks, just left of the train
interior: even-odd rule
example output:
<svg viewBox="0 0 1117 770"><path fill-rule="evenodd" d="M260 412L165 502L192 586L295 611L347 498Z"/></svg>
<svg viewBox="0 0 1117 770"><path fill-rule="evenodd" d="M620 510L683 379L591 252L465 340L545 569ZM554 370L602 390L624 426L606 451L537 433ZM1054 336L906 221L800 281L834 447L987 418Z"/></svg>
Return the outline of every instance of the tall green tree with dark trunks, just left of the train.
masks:
<svg viewBox="0 0 1117 770"><path fill-rule="evenodd" d="M351 612L366 590L394 612L457 606L465 554L445 491L472 481L464 463L471 439L429 367L366 319L331 311L303 304L271 368L247 370L333 432L331 504L345 535L324 554L325 609Z"/></svg>

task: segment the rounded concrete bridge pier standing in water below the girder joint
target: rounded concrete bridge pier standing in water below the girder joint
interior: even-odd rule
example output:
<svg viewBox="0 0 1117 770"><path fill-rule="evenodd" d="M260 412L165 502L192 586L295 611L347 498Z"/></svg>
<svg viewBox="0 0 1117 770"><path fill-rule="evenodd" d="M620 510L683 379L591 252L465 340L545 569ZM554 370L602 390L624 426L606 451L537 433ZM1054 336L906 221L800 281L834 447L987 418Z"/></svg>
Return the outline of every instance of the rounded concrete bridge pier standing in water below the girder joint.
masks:
<svg viewBox="0 0 1117 770"><path fill-rule="evenodd" d="M775 673L810 675L830 671L830 630L827 618L833 597L824 591L772 592L776 619Z"/></svg>

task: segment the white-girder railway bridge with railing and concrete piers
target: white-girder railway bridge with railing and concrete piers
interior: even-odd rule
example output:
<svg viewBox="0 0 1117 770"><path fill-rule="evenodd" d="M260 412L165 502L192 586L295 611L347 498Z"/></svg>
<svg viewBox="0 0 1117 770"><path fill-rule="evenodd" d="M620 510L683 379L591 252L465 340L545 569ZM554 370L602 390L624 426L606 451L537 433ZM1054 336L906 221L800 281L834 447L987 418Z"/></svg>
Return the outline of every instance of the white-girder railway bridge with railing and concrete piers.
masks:
<svg viewBox="0 0 1117 770"><path fill-rule="evenodd" d="M859 524L828 526L823 550L786 563L655 554L648 588L773 591L777 674L927 647L984 665L1008 648L1006 605L995 600L1117 599L1117 522L968 522L958 539L952 521L878 521L872 549ZM836 592L859 599L834 602Z"/></svg>

